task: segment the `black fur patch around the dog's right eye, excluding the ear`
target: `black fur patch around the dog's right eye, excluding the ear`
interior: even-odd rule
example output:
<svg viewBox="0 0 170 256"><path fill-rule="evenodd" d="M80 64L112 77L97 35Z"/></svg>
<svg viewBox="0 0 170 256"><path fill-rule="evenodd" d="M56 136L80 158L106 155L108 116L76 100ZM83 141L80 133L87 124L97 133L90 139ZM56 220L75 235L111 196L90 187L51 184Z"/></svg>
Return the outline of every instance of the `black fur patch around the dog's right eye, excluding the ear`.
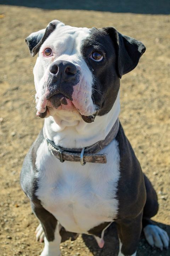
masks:
<svg viewBox="0 0 170 256"><path fill-rule="evenodd" d="M113 42L104 30L92 28L90 36L81 44L81 54L94 76L92 99L99 106L99 116L108 113L119 91L120 80L116 72L116 51ZM89 56L93 51L100 51L103 59L95 62Z"/></svg>

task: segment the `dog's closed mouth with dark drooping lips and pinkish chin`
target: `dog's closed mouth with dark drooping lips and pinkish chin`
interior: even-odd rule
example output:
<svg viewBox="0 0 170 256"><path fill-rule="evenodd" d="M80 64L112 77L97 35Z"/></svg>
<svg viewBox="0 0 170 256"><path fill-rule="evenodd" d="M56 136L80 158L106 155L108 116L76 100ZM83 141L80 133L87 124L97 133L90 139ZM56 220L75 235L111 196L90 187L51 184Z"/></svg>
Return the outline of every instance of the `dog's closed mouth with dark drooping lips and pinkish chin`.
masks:
<svg viewBox="0 0 170 256"><path fill-rule="evenodd" d="M68 96L66 95L63 95L61 93L59 94L55 94L55 95L52 95L51 97L47 97L46 100L46 106L44 106L43 108L43 112L41 111L37 111L36 112L36 116L40 117L40 118L45 118L47 117L47 113L52 109L52 108L56 108L56 109L59 109L59 108L71 108L72 110L77 110L79 113L79 109L77 109L74 104L73 104L73 101L72 99L68 98ZM45 110L45 111L44 111ZM95 117L97 116L98 114L98 110L96 111L95 114L93 115L90 115L90 116L85 116L83 114L80 113L82 119L84 120L84 122L86 123L92 123L95 121Z"/></svg>

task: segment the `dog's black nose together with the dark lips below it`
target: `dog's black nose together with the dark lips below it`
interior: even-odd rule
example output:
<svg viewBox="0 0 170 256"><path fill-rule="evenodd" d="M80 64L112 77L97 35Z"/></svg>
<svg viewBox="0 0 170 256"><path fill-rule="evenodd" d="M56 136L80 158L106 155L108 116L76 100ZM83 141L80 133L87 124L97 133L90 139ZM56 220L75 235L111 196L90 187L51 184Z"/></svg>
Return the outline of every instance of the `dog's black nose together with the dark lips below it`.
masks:
<svg viewBox="0 0 170 256"><path fill-rule="evenodd" d="M68 105L68 101L73 103L73 87L77 85L79 81L80 71L73 63L66 60L58 60L52 63L49 68L49 76L46 82L48 91L46 100L49 101L54 108L58 108L61 105ZM37 116L44 118L46 114L47 107L44 113L38 112ZM81 117L86 123L91 123L94 122L97 114L98 110L91 116L84 116L81 114Z"/></svg>

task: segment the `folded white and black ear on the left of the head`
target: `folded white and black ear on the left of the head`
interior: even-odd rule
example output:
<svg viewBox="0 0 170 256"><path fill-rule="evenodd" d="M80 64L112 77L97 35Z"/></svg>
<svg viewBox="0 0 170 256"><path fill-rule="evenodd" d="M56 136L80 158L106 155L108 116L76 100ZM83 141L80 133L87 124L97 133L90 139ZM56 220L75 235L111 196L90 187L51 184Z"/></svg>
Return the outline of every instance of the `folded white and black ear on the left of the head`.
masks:
<svg viewBox="0 0 170 256"><path fill-rule="evenodd" d="M34 57L39 52L41 45L44 43L47 37L49 37L50 34L55 30L59 23L64 26L61 21L53 20L49 23L46 29L31 33L26 38L26 43L28 44L32 57Z"/></svg>

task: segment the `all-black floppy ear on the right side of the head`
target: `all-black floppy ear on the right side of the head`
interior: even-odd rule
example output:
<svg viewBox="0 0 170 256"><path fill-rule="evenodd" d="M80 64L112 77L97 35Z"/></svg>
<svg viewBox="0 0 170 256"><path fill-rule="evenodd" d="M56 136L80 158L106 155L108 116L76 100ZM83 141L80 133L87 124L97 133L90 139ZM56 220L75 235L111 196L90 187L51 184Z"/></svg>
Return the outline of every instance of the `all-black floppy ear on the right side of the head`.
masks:
<svg viewBox="0 0 170 256"><path fill-rule="evenodd" d="M117 72L119 78L133 70L142 54L145 46L136 39L120 34L115 28L105 28L111 37L117 52Z"/></svg>

